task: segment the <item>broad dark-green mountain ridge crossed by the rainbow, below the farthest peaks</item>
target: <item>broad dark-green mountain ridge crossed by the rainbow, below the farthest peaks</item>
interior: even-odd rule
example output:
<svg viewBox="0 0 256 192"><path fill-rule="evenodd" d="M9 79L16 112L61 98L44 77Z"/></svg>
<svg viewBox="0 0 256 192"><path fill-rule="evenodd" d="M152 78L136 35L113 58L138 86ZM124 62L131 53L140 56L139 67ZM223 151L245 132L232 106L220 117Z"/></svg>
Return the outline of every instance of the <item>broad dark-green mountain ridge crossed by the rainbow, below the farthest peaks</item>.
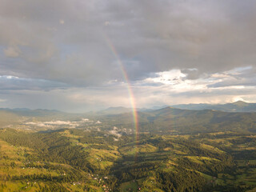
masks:
<svg viewBox="0 0 256 192"><path fill-rule="evenodd" d="M166 107L150 112L138 112L138 127L150 133L198 133L210 131L256 132L256 113L235 113L218 110L181 110ZM117 127L134 129L132 113L103 115L100 120Z"/></svg>

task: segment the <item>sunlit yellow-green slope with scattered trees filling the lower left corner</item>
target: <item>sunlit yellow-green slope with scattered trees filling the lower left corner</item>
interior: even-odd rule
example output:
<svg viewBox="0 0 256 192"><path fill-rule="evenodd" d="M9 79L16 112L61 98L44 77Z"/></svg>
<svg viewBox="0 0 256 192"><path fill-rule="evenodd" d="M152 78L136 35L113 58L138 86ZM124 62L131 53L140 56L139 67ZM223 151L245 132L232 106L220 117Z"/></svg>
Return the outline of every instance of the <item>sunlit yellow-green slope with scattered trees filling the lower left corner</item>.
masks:
<svg viewBox="0 0 256 192"><path fill-rule="evenodd" d="M80 138L84 137L69 130L47 134L0 130L0 191L108 189L102 174L108 173L118 158L116 147L96 149L103 145L79 142Z"/></svg>

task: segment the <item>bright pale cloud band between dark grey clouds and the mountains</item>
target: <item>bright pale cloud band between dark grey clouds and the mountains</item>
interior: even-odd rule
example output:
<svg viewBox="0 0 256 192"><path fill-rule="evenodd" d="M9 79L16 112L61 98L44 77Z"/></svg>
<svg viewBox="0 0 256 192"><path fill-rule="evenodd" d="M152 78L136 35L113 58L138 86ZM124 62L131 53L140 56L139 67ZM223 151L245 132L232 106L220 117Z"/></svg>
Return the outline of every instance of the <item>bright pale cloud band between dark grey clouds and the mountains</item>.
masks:
<svg viewBox="0 0 256 192"><path fill-rule="evenodd" d="M19 86L16 81L20 81L20 78L5 76L2 85L7 86L6 82L14 81L10 84L13 87L10 85L9 89L2 87L0 98L6 100L2 102L2 107L58 109L75 113L102 110L109 106L130 107L131 97L134 98L138 108L180 103L224 103L233 102L235 98L256 102L253 74L252 68L247 67L202 76L198 79L189 79L186 78L187 74L182 74L182 70L170 70L151 74L150 78L130 82L130 85L113 81L102 86L86 88L66 86L63 88L59 84L54 87L53 82L47 82L52 85L51 89L44 81L43 83L39 81L41 84L31 83L33 79L19 82L21 83ZM30 85L30 89L24 86L26 83ZM46 90L44 86L48 89ZM128 91L128 87L132 88L133 96ZM81 121L87 120L85 118Z"/></svg>

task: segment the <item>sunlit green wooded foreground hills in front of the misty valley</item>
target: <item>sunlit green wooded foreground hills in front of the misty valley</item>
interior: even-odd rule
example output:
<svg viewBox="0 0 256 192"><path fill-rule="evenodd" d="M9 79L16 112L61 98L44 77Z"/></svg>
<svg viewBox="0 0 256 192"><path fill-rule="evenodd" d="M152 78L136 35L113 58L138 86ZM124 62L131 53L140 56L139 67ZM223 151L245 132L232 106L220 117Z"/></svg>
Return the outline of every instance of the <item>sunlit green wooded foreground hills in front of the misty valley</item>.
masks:
<svg viewBox="0 0 256 192"><path fill-rule="evenodd" d="M2 191L249 191L256 135L0 130Z"/></svg>

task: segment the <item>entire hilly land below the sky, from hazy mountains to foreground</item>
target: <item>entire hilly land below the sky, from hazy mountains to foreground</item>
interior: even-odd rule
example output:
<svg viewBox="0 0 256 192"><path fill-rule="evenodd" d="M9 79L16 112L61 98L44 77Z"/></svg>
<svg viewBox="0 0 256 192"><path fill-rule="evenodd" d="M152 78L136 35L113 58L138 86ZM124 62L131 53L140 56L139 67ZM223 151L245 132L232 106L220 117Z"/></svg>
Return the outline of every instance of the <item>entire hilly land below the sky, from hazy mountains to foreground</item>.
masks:
<svg viewBox="0 0 256 192"><path fill-rule="evenodd" d="M0 191L254 191L256 114L1 110Z"/></svg>

